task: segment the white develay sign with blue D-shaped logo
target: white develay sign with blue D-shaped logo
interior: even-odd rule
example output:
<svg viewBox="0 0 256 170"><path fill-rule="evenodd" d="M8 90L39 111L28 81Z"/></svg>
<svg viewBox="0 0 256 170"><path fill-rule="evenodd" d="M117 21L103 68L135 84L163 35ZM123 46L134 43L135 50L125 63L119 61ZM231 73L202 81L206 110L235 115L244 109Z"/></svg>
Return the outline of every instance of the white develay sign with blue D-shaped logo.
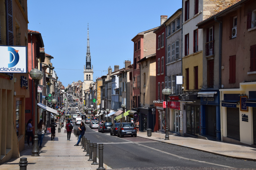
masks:
<svg viewBox="0 0 256 170"><path fill-rule="evenodd" d="M27 47L0 45L0 72L27 73Z"/></svg>

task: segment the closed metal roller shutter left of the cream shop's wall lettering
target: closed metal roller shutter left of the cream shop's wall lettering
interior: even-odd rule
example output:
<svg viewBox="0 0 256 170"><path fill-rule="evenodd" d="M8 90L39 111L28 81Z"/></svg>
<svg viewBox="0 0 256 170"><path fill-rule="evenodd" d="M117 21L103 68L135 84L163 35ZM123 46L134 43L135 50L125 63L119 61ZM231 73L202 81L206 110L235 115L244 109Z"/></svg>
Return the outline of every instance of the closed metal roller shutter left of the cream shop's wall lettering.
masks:
<svg viewBox="0 0 256 170"><path fill-rule="evenodd" d="M238 107L227 107L227 137L240 140L240 122Z"/></svg>

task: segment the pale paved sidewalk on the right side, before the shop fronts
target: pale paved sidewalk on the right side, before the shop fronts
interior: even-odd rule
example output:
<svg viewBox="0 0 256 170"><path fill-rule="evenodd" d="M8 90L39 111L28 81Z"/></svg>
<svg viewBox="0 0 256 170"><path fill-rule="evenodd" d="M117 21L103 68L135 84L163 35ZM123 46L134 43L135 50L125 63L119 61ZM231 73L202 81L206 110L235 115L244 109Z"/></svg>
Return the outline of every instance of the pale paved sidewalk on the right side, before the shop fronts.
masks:
<svg viewBox="0 0 256 170"><path fill-rule="evenodd" d="M256 148L239 144L216 142L176 135L169 135L170 140L164 140L165 134L162 133L152 133L152 136L148 137L147 132L139 132L137 136L177 146L196 149L211 154L242 160L256 161Z"/></svg>

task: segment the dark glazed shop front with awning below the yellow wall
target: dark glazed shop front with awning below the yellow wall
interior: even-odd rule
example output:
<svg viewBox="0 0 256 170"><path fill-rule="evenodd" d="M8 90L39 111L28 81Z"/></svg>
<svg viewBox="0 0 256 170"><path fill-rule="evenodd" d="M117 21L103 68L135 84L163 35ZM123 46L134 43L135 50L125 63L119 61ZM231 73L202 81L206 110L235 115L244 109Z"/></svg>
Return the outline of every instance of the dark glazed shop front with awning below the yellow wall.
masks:
<svg viewBox="0 0 256 170"><path fill-rule="evenodd" d="M197 138L200 135L200 97L197 94L183 94L178 97L182 107L184 136Z"/></svg>

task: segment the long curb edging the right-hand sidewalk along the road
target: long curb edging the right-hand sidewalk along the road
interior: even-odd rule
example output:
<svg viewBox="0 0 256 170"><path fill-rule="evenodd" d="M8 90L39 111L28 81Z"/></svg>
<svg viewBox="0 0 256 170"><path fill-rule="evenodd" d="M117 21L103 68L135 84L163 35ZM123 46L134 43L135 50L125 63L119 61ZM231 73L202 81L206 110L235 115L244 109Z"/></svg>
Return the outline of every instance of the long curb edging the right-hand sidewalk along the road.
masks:
<svg viewBox="0 0 256 170"><path fill-rule="evenodd" d="M196 148L193 148L193 147L182 146L182 145L179 145L179 144L168 143L168 142L159 141L159 140L156 140L156 139L150 139L148 137L142 137L142 136L138 136L138 135L137 135L137 137L141 137L141 138L144 138L144 139L149 139L149 140L152 140L152 141L167 143L167 144L171 144L171 145L175 145L175 146L180 146L180 147L184 147L184 148L190 148L190 149L194 149L194 150L199 150L199 151L203 151L203 152L214 154L214 155L219 155L219 156L224 156L224 157L229 157L229 158L235 158L235 159L238 159L238 160L247 160L247 161L255 161L256 162L256 158L255 159L254 158L242 158L242 157L237 157L237 156L220 154L220 153L216 153L216 152L213 152L213 151L206 151L206 150L196 149Z"/></svg>

